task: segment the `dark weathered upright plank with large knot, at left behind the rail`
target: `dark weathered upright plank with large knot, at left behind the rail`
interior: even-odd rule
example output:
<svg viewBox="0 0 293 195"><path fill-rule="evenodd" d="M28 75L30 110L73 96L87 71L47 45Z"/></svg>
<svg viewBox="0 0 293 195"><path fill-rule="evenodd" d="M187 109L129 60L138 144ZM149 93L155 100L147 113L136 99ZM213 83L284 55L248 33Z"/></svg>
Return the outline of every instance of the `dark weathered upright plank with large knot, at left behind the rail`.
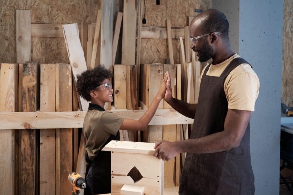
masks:
<svg viewBox="0 0 293 195"><path fill-rule="evenodd" d="M39 64L23 64L22 72L22 110L35 112L38 105ZM22 194L36 194L36 130L21 130L21 189Z"/></svg>

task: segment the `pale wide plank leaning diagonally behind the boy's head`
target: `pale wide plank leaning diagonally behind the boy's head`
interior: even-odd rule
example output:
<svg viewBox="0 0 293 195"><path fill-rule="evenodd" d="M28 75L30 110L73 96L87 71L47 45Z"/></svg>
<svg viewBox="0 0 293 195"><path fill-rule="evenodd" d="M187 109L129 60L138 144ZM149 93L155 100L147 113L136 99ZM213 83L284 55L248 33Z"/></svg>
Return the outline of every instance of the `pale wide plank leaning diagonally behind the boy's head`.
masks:
<svg viewBox="0 0 293 195"><path fill-rule="evenodd" d="M82 72L87 70L83 48L79 39L77 24L63 25L63 33L64 33L69 61L71 64L73 75L74 75L74 81L76 81L76 75L81 74ZM81 110L87 111L88 102L80 97L79 97L79 102L81 105L80 106Z"/></svg>

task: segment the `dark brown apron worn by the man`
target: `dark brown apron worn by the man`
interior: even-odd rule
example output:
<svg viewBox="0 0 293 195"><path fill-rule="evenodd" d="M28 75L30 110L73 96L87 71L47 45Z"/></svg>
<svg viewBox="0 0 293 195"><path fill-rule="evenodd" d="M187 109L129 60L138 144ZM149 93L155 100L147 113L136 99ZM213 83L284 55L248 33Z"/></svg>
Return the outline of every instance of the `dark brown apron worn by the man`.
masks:
<svg viewBox="0 0 293 195"><path fill-rule="evenodd" d="M232 60L220 77L206 75L211 64L205 69L191 139L224 130L228 111L224 81L242 63L247 62L242 58ZM254 190L249 124L237 148L217 153L186 155L179 195L254 195Z"/></svg>

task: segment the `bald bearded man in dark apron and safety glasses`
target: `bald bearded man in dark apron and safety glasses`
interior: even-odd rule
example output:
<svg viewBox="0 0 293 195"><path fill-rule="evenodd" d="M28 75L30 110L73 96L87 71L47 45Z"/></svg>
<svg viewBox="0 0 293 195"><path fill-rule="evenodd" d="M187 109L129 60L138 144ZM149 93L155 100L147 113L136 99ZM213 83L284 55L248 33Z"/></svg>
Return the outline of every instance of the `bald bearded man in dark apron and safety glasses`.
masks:
<svg viewBox="0 0 293 195"><path fill-rule="evenodd" d="M200 78L197 104L172 98L171 82L164 99L194 118L190 139L156 143L154 156L169 160L186 152L180 195L253 195L250 157L251 111L259 80L251 66L231 48L225 15L209 9L190 24L191 48L200 62L212 59Z"/></svg>

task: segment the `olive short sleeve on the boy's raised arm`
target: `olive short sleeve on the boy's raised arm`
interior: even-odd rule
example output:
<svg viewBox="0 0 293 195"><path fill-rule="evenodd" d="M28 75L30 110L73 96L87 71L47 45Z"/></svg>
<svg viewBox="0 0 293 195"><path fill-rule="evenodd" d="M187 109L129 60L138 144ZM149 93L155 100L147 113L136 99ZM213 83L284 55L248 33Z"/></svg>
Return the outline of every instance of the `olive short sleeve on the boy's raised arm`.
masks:
<svg viewBox="0 0 293 195"><path fill-rule="evenodd" d="M119 117L112 112L105 112L101 116L105 132L116 135L125 118Z"/></svg>

